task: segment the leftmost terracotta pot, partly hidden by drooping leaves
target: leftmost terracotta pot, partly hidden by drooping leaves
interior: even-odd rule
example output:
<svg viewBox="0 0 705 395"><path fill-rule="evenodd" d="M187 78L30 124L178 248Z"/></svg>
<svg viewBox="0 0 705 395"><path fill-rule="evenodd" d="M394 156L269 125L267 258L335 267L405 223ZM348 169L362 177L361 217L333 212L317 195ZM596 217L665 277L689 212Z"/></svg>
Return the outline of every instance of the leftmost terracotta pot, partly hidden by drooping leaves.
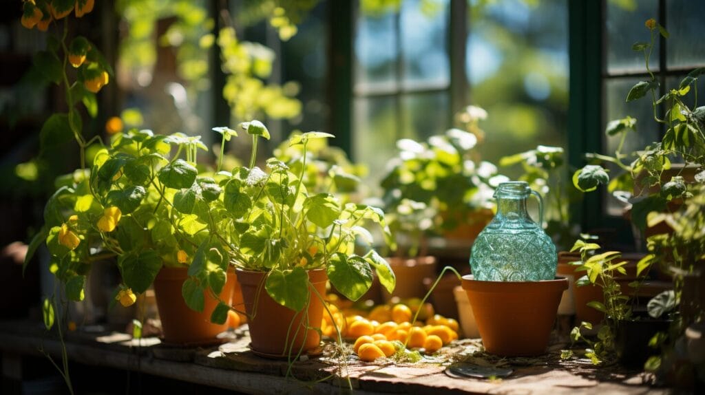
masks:
<svg viewBox="0 0 705 395"><path fill-rule="evenodd" d="M220 332L228 329L227 322L216 325L211 322L211 313L218 301L204 292L202 312L193 311L183 300L181 287L188 277L188 268L161 268L154 279L154 296L157 299L164 342L173 344L209 344ZM228 270L227 280L220 298L231 303L233 289L238 282L235 272Z"/></svg>

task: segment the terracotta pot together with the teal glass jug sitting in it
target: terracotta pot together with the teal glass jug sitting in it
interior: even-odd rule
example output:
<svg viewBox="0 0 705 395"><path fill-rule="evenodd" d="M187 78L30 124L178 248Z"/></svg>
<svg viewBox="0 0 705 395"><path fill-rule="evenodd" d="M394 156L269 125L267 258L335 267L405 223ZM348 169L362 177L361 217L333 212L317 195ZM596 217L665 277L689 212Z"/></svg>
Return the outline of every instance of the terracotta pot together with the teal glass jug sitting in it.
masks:
<svg viewBox="0 0 705 395"><path fill-rule="evenodd" d="M497 215L472 246L462 277L484 348L501 356L544 353L568 280L556 278L556 247L526 209L527 182L498 185ZM543 222L539 206L539 222Z"/></svg>

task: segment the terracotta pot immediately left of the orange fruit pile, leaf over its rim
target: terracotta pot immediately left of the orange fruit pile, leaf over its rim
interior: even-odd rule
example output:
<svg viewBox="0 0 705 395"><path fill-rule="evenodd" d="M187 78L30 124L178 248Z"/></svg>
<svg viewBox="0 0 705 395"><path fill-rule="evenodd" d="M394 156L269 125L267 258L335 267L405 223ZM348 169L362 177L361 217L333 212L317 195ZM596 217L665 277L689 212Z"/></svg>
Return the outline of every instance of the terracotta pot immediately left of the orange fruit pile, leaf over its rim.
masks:
<svg viewBox="0 0 705 395"><path fill-rule="evenodd" d="M245 311L250 317L250 349L262 356L283 357L319 347L323 303L311 291L308 308L300 312L281 306L264 289L265 272L236 270L243 287ZM309 270L309 281L321 296L326 294L326 270ZM309 286L310 288L310 286ZM308 329L307 329L308 327ZM315 328L315 329L314 329Z"/></svg>

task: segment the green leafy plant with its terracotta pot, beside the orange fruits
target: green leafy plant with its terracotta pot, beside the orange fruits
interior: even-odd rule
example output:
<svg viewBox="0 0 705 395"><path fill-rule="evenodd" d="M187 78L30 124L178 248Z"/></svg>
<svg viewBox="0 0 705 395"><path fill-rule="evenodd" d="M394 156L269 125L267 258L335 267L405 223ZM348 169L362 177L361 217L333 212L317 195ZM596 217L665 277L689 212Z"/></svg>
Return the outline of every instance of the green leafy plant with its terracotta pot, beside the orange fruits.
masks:
<svg viewBox="0 0 705 395"><path fill-rule="evenodd" d="M327 280L353 301L372 284L372 268L386 289L394 288L393 272L379 254L355 253L357 237L372 243L363 227L367 221L388 233L384 213L372 206L343 204L326 192L309 192L307 146L331 134L307 132L289 139L288 144L301 145L298 173L277 158L266 161L265 171L255 159L257 140L269 139L269 131L257 120L241 127L252 137L250 163L216 174L222 196L204 207L209 237L197 244L190 281L204 288L212 259L226 257L237 268L243 287L252 351L274 357L314 352ZM223 139L237 134L226 127L216 130ZM196 210L202 200L199 189L190 193ZM184 296L190 299L187 293ZM214 320L224 321L230 308L219 303Z"/></svg>

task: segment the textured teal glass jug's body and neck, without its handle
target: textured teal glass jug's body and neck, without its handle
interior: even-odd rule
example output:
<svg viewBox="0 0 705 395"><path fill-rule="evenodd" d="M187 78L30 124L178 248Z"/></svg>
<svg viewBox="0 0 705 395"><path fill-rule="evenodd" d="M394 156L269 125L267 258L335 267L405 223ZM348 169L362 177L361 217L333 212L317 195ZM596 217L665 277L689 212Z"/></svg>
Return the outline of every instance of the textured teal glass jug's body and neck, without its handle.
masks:
<svg viewBox="0 0 705 395"><path fill-rule="evenodd" d="M539 281L556 276L556 246L527 213L526 182L503 182L494 194L497 215L472 245L475 280Z"/></svg>

